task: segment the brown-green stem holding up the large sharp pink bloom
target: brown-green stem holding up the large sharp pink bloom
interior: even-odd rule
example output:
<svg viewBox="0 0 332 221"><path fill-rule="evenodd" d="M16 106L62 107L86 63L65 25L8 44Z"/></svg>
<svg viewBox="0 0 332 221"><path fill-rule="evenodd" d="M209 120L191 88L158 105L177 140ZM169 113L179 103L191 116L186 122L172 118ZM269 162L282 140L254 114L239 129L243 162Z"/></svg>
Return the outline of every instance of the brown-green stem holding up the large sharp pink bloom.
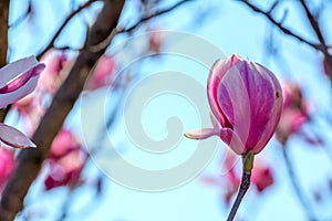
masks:
<svg viewBox="0 0 332 221"><path fill-rule="evenodd" d="M241 185L240 185L236 201L234 202L231 210L228 214L227 221L234 220L234 218L240 207L240 203L241 203L247 190L250 187L250 177L251 177L252 167L253 167L253 152L249 151L243 158L243 172L242 172Z"/></svg>

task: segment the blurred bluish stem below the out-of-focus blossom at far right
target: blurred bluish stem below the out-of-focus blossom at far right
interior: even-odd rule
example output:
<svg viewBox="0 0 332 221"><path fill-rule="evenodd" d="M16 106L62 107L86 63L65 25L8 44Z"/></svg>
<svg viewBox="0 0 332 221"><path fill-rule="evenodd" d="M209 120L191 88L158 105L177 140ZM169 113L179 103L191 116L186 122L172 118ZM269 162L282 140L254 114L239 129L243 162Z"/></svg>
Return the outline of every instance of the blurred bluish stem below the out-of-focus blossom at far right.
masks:
<svg viewBox="0 0 332 221"><path fill-rule="evenodd" d="M284 161L286 161L286 168L287 168L287 171L288 171L288 175L289 175L289 178L291 180L291 185L294 189L294 192L303 208L303 210L305 211L307 213L307 217L309 220L317 220L314 218L314 213L312 212L312 210L310 209L305 198L304 198L304 193L302 192L301 188L300 188L300 183L295 177L295 172L294 172L294 169L293 169L293 165L291 164L291 160L289 158L289 155L288 155L288 151L287 151L287 147L283 146L282 148L282 156L284 158Z"/></svg>

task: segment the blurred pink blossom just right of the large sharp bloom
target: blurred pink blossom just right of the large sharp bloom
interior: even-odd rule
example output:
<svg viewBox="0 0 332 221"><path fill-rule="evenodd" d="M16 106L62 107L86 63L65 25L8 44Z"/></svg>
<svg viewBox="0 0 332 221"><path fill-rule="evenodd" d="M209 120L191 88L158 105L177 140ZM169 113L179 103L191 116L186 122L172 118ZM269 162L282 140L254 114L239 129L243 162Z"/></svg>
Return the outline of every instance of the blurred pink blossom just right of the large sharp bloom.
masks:
<svg viewBox="0 0 332 221"><path fill-rule="evenodd" d="M308 105L301 88L294 83L283 83L283 110L277 127L277 139L284 144L292 134L299 133L301 126L310 119Z"/></svg>

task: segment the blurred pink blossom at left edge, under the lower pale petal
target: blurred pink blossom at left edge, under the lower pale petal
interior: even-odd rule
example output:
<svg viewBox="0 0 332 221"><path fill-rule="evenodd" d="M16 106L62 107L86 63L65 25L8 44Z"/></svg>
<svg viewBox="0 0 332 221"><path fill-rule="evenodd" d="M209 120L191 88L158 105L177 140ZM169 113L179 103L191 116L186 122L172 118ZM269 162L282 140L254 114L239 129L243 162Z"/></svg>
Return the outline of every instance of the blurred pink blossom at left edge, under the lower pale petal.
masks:
<svg viewBox="0 0 332 221"><path fill-rule="evenodd" d="M15 168L13 152L4 147L0 147L0 192L2 192L6 182Z"/></svg>

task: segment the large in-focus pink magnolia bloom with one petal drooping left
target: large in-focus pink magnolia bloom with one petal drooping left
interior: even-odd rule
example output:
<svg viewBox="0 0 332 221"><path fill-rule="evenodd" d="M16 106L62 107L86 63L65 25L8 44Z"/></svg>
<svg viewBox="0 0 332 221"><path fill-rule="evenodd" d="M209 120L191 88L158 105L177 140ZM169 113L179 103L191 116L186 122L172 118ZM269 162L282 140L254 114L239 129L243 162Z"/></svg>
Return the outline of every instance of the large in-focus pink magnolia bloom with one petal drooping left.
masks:
<svg viewBox="0 0 332 221"><path fill-rule="evenodd" d="M234 54L211 67L207 95L214 128L185 135L193 139L219 136L238 155L260 152L282 110L281 86L273 73Z"/></svg>

